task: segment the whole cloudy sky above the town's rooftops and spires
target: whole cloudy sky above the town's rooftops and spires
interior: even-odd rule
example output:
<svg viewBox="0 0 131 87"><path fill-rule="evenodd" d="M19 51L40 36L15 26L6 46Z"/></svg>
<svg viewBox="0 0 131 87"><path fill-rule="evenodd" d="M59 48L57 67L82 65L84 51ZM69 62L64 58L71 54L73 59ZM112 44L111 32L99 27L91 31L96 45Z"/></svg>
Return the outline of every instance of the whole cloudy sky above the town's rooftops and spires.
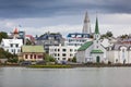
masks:
<svg viewBox="0 0 131 87"><path fill-rule="evenodd" d="M0 0L0 30L15 27L28 35L47 32L81 33L85 12L94 32L96 13L100 34L131 34L131 0Z"/></svg>

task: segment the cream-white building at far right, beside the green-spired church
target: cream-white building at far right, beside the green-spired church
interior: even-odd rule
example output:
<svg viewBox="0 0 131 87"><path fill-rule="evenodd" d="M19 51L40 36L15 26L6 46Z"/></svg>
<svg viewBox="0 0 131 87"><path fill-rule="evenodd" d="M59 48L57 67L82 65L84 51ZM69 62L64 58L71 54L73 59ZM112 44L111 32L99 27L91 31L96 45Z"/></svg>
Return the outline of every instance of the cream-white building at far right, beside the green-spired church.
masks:
<svg viewBox="0 0 131 87"><path fill-rule="evenodd" d="M108 47L107 58L111 63L130 64L131 63L131 45L114 44Z"/></svg>

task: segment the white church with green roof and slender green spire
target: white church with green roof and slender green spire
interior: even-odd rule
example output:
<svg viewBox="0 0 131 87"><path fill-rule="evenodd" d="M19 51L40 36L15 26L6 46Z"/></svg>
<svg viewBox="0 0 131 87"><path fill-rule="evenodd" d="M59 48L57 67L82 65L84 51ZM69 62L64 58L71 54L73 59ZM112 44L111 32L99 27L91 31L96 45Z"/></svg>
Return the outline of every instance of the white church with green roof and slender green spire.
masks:
<svg viewBox="0 0 131 87"><path fill-rule="evenodd" d="M106 49L100 44L98 21L96 17L94 40L87 41L78 49L76 61L79 63L102 63L106 61Z"/></svg>

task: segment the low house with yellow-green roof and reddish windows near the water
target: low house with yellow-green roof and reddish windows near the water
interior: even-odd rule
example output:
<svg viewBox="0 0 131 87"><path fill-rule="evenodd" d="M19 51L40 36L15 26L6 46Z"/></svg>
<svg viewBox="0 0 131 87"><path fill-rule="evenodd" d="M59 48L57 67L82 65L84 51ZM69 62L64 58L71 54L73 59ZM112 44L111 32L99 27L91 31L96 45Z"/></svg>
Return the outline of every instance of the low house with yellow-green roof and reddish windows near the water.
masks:
<svg viewBox="0 0 131 87"><path fill-rule="evenodd" d="M44 60L43 46L22 46L22 59L24 61L43 61Z"/></svg>

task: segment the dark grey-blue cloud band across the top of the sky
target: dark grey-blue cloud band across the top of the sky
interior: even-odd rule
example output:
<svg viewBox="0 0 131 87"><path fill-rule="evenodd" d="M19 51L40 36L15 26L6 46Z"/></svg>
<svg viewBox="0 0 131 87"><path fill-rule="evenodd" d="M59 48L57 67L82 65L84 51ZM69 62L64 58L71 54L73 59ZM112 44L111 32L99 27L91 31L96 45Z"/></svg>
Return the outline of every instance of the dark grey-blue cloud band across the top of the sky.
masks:
<svg viewBox="0 0 131 87"><path fill-rule="evenodd" d="M131 13L131 0L0 0L0 17L47 17L88 11Z"/></svg>

